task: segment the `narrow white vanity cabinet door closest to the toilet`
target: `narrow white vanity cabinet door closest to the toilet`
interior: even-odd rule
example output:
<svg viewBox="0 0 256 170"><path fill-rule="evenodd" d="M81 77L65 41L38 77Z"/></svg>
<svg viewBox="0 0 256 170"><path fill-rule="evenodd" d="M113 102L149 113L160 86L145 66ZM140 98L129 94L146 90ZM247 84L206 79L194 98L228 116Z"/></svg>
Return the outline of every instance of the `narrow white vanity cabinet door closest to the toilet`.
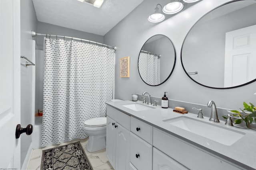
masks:
<svg viewBox="0 0 256 170"><path fill-rule="evenodd" d="M115 124L114 124L115 123ZM110 164L116 166L116 122L107 116L106 152Z"/></svg>

